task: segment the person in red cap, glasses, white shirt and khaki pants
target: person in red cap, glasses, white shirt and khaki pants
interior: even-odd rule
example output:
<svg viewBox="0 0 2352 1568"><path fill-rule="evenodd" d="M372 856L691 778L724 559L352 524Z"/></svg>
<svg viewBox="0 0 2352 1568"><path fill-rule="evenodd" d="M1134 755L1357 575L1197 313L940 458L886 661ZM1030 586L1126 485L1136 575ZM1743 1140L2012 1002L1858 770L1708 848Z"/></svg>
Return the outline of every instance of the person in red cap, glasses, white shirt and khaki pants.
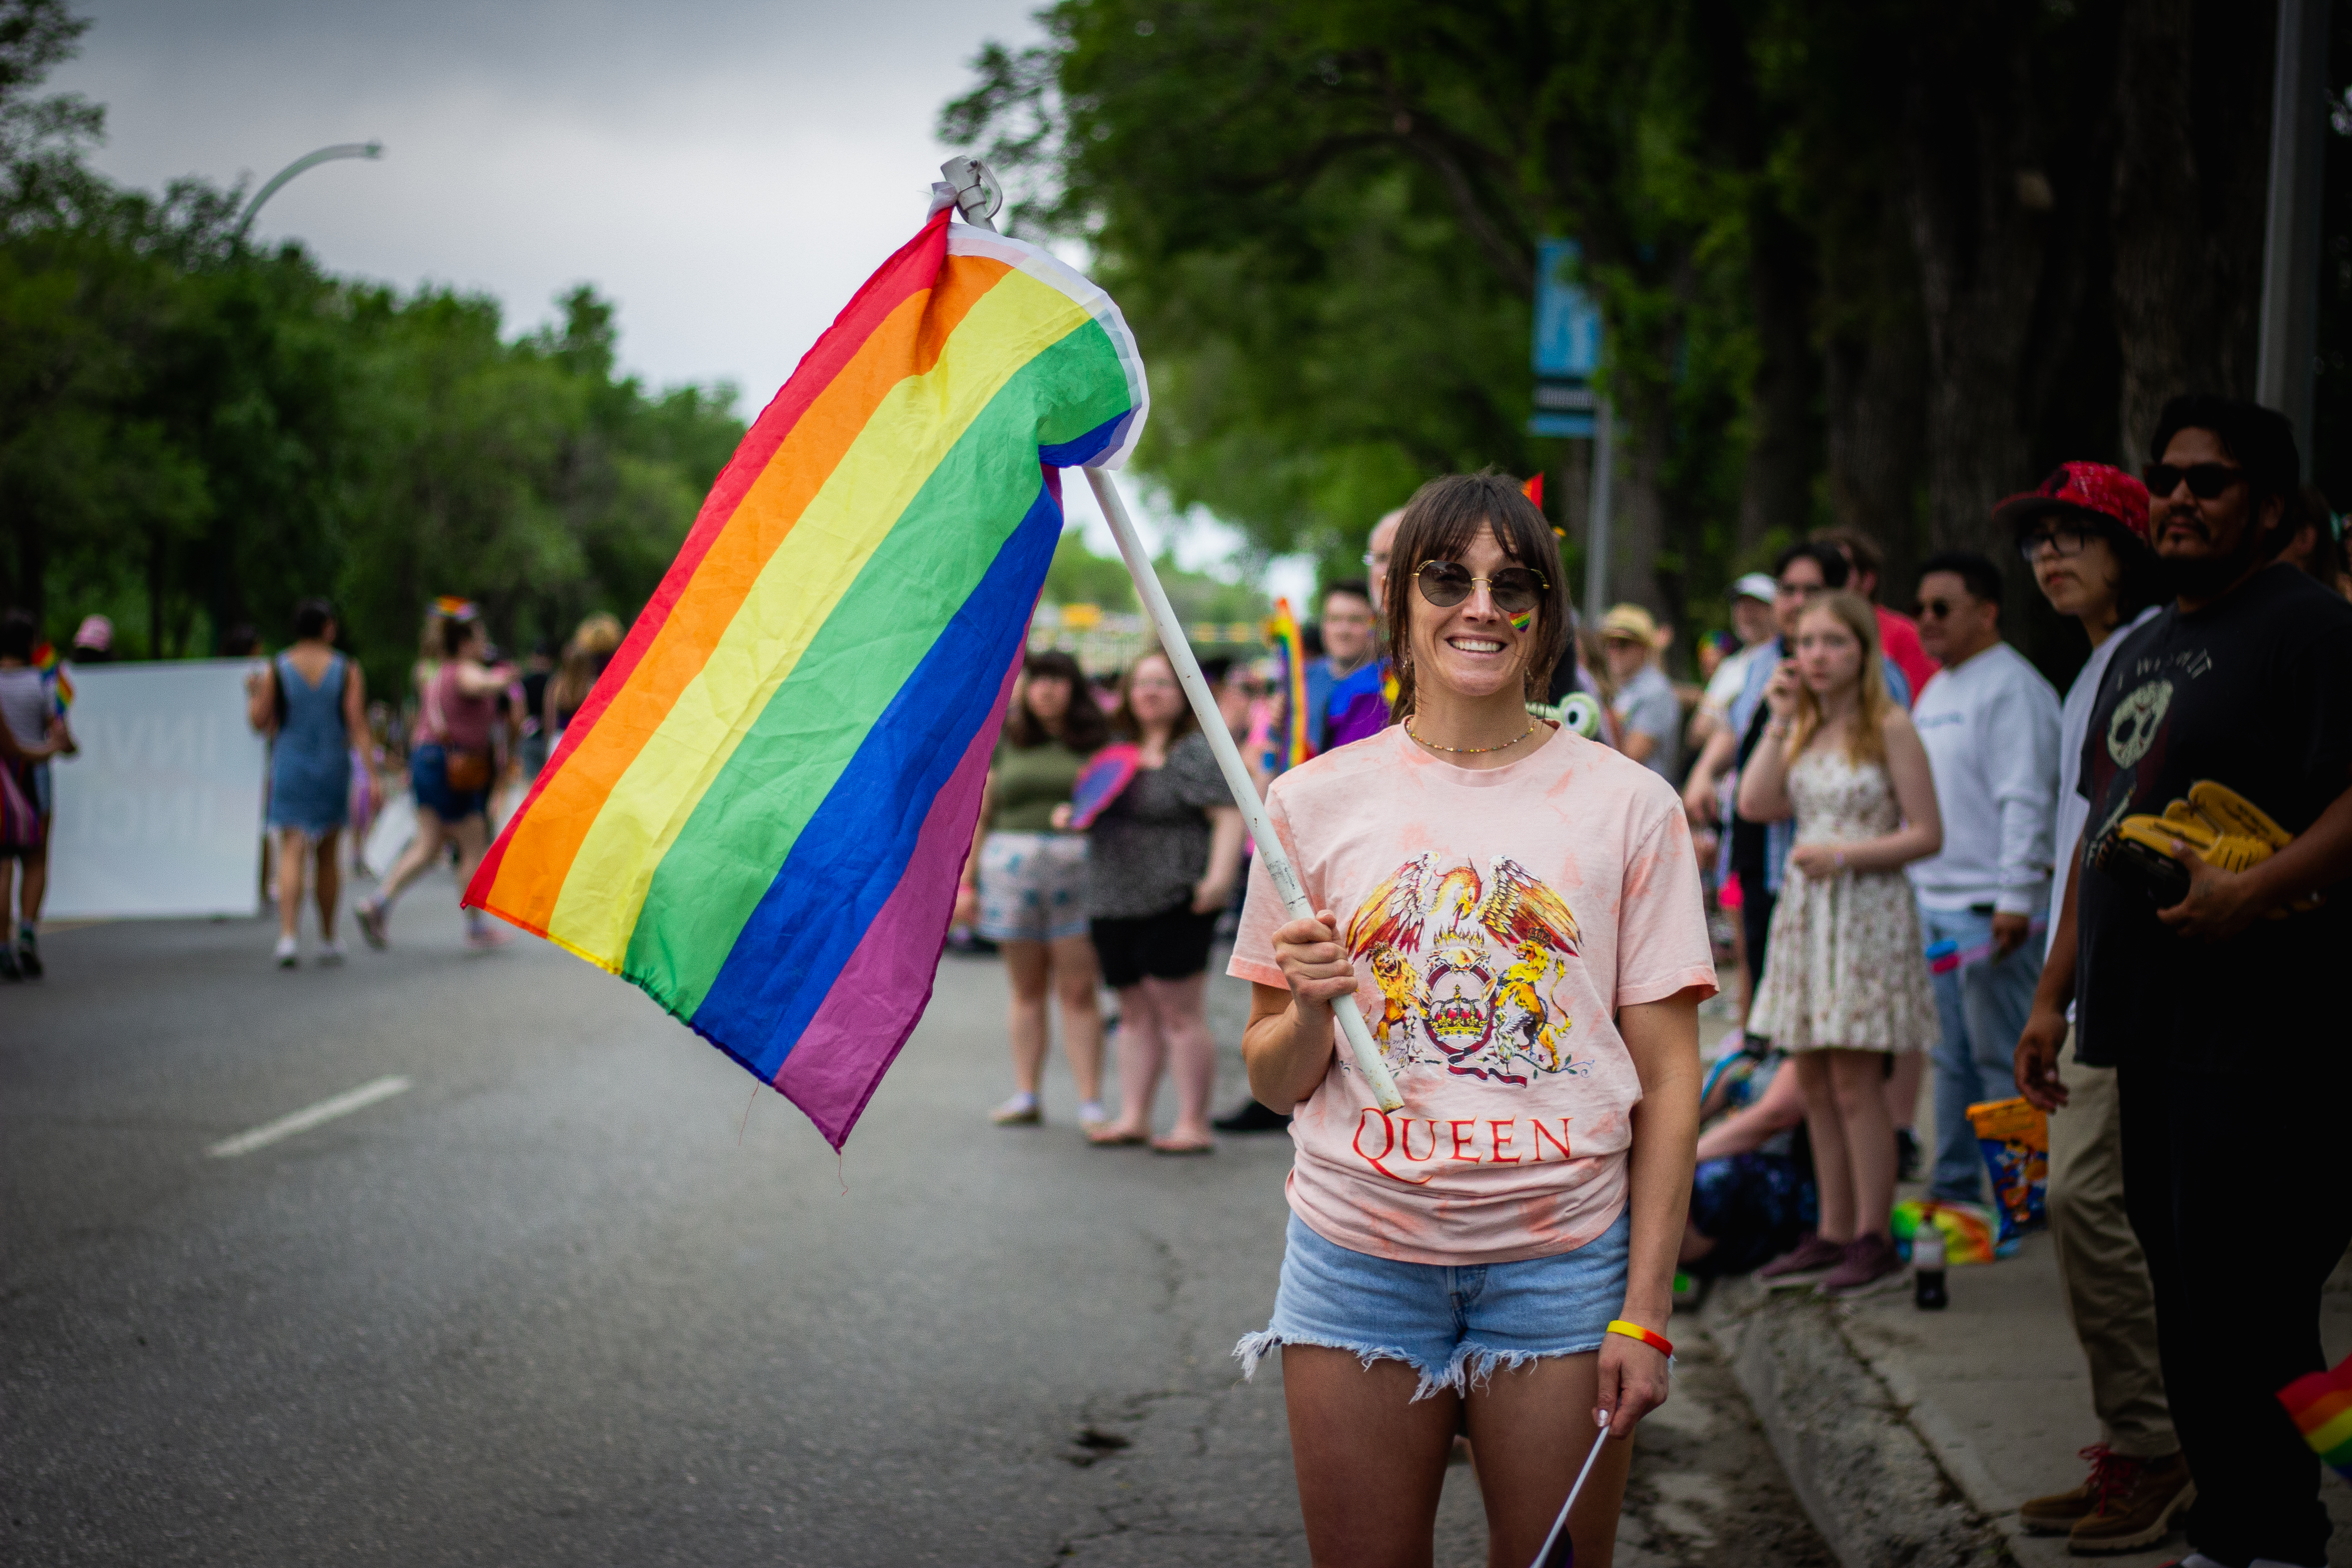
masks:
<svg viewBox="0 0 2352 1568"><path fill-rule="evenodd" d="M2147 489L2122 468L2065 463L2037 489L1992 515L2018 541L2042 597L2074 616L2091 658L2058 710L2058 811L2051 842L2051 907L2065 907L2077 875L2074 846L2091 806L2082 799L2082 743L2091 733L2114 651L2157 614L2157 557L2147 548ZM2056 931L2051 933L2056 940ZM2098 1443L2082 1486L2018 1505L2039 1535L2065 1535L2084 1552L2124 1552L2164 1540L2187 1507L2190 1467L2164 1399L2157 1359L2157 1300L2147 1258L2124 1206L2124 1138L2114 1067L2084 1063L2074 1030L2060 1063L2065 1110L2051 1112L2049 1225L2067 1321L2091 1368ZM2018 1046L2023 1086L2023 1041Z"/></svg>

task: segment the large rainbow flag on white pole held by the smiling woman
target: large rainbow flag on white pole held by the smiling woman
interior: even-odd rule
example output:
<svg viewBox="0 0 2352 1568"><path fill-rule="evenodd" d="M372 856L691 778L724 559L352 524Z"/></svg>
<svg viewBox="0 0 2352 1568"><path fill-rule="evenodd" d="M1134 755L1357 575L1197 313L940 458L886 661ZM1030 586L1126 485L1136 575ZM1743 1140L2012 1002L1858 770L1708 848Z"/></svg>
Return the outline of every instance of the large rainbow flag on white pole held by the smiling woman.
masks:
<svg viewBox="0 0 2352 1568"><path fill-rule="evenodd" d="M943 207L767 404L466 889L842 1147L946 943L1061 468L1148 404L1110 296Z"/></svg>

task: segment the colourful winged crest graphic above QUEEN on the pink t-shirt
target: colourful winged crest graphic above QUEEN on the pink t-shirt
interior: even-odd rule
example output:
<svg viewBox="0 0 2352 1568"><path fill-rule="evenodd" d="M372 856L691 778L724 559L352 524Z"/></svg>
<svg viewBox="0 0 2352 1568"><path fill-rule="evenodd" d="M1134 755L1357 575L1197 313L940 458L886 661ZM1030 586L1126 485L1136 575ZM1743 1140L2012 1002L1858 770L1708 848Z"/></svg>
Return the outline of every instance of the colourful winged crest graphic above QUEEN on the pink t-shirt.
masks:
<svg viewBox="0 0 2352 1568"><path fill-rule="evenodd" d="M1371 1034L1392 1072L1446 1072L1524 1086L1538 1072L1578 1074L1573 1018L1557 987L1576 957L1576 914L1510 856L1437 867L1435 851L1399 865L1348 922L1348 957L1371 971L1381 1013Z"/></svg>

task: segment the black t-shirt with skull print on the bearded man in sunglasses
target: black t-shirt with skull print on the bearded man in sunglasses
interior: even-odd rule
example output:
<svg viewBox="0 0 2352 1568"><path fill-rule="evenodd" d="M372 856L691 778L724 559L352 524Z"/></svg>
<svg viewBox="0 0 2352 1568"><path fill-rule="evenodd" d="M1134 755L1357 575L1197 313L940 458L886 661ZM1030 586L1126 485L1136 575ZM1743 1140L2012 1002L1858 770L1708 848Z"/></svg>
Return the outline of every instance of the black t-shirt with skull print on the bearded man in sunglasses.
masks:
<svg viewBox="0 0 2352 1568"><path fill-rule="evenodd" d="M2126 816L2161 816L2201 778L2288 832L2352 788L2352 604L2293 567L2265 567L2194 616L2166 607L2117 649L2082 748L2084 842ZM2331 889L2319 910L2258 919L2227 943L2190 943L2157 919L2147 893L2091 867L2079 875L2084 1063L2122 1067L2169 1051L2185 1065L2220 1065L2319 1044L2310 1030L2340 1009L2328 980L2347 957L2352 884Z"/></svg>

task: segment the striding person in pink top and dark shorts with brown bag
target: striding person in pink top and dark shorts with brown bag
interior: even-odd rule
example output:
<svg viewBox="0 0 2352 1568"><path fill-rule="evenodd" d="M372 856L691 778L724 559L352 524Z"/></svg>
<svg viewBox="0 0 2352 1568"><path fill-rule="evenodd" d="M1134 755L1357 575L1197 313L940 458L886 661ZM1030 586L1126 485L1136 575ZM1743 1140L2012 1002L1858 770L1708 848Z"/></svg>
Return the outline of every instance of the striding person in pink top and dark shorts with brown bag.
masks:
<svg viewBox="0 0 2352 1568"><path fill-rule="evenodd" d="M409 790L416 795L416 837L383 877L374 898L353 907L372 947L390 943L393 900L426 875L456 842L459 893L489 849L489 785L496 778L499 693L515 679L508 665L482 663L489 632L473 604L440 618L442 661L423 682L416 731L409 736ZM480 910L466 910L468 947L503 947L506 933Z"/></svg>

